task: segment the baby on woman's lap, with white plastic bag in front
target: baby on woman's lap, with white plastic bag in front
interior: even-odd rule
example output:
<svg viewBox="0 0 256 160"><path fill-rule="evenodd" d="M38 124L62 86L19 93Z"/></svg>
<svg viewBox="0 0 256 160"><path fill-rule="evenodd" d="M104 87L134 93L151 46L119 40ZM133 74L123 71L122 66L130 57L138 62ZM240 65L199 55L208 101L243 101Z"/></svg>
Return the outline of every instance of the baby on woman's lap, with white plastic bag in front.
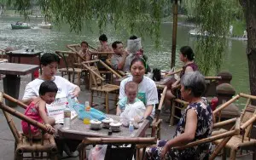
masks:
<svg viewBox="0 0 256 160"><path fill-rule="evenodd" d="M146 111L146 107L143 101L137 98L138 84L130 81L125 84L125 94L126 96L119 100L117 107L117 115L122 112L125 117L134 118L136 122L143 120L143 114Z"/></svg>

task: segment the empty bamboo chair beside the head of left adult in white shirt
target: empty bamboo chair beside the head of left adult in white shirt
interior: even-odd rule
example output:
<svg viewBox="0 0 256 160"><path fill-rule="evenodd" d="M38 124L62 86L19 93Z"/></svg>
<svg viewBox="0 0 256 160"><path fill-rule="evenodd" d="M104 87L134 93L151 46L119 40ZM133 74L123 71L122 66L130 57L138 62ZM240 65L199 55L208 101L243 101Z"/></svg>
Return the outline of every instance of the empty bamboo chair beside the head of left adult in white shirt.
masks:
<svg viewBox="0 0 256 160"><path fill-rule="evenodd" d="M64 63L66 65L65 68L59 69L59 71L61 71L61 77L64 77L65 73L67 73L68 80L74 83L75 75L77 74L78 86L80 87L82 74L86 71L81 65L80 66L78 65L79 64L78 54L76 52L58 51L58 50L55 51L55 53L58 54L64 60ZM71 79L71 75L73 75L72 79Z"/></svg>

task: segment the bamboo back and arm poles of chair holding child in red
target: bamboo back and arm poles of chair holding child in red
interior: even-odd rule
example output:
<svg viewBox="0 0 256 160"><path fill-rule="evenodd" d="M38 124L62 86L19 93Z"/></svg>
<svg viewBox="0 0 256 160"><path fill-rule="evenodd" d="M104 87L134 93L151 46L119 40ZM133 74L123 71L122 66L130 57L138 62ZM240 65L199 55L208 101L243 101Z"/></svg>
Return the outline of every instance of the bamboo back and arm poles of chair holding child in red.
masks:
<svg viewBox="0 0 256 160"><path fill-rule="evenodd" d="M6 106L3 104L3 99L8 97L9 95L7 94L3 94L3 92L0 92L0 108L3 110L3 114L4 116L6 117L6 120L7 120L7 123L9 124L9 128L11 129L11 132L12 134L14 135L15 137L15 141L16 143L19 143L21 141L20 139L20 134L15 126L15 123L13 121L13 118L10 116L10 115L13 115L15 117L18 117L20 118L21 120L25 121L26 123L28 123L29 125L33 125L33 126L36 126L38 127L38 129L41 129L43 131L43 134L45 132L47 132L47 129L46 127L44 126L44 124L42 123L38 123L38 121L35 121L33 120L32 118L30 117L26 117L23 113L21 113L20 111L16 111L15 109L9 107L9 106ZM9 96L10 97L10 96ZM20 102L19 100L15 100L14 98L13 99L9 99L9 100L14 100L13 102L17 103L22 103ZM23 104L24 105L24 104ZM26 105L24 105L26 106ZM32 139L31 139L32 140ZM44 140L42 140L42 143L44 142Z"/></svg>

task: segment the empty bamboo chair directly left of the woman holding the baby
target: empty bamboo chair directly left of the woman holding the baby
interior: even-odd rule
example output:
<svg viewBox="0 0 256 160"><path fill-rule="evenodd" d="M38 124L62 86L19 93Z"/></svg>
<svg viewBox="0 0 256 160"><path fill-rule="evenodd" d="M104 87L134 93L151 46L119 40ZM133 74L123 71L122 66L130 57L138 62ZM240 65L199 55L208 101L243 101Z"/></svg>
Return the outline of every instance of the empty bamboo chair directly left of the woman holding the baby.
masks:
<svg viewBox="0 0 256 160"><path fill-rule="evenodd" d="M108 65L106 65L102 60L90 60L90 61L85 61L83 62L83 66L88 69L90 72L90 83L94 83L94 87L90 87L90 106L93 104L93 97L94 97L94 92L96 93L103 93L105 94L105 103L102 105L106 107L106 113L109 112L109 94L110 93L115 93L115 104L118 99L118 91L119 91L119 86L113 85L113 84L103 84L105 79L100 75L100 71L97 68L96 63L101 63L102 66L105 66L108 71L111 71L115 76L121 77L116 71L113 71L112 68L110 68ZM90 66L91 64L94 64L94 66ZM99 105L99 104L96 104Z"/></svg>

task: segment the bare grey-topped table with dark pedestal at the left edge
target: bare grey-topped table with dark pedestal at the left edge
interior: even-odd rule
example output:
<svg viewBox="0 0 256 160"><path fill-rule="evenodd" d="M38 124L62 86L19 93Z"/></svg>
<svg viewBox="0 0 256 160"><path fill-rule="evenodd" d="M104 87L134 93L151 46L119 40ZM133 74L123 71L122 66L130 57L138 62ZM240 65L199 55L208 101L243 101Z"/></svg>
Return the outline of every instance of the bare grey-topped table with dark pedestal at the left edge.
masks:
<svg viewBox="0 0 256 160"><path fill-rule="evenodd" d="M37 65L26 65L18 63L0 63L0 74L5 74L3 77L3 91L6 94L19 99L20 93L20 75L26 75L38 70ZM7 106L15 106L15 103L5 100Z"/></svg>

